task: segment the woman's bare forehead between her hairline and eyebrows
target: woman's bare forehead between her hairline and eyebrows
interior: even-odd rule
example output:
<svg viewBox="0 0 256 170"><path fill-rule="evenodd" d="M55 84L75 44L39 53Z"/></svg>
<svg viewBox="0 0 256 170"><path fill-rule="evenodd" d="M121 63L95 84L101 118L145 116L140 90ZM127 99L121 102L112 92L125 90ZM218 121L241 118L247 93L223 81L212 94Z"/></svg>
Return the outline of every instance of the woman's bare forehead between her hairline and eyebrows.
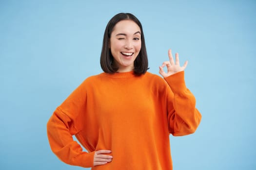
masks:
<svg viewBox="0 0 256 170"><path fill-rule="evenodd" d="M140 28L139 28L138 24L135 23L134 21L121 20L115 25L112 33L134 34L138 31L140 32Z"/></svg>

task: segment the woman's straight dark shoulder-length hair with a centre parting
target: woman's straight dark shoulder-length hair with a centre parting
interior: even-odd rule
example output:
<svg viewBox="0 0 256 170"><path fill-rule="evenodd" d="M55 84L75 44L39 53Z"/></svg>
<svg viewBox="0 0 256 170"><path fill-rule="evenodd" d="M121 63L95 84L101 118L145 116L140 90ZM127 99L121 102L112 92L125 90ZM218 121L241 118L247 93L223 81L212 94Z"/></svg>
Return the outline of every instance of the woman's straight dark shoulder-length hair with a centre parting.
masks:
<svg viewBox="0 0 256 170"><path fill-rule="evenodd" d="M134 73L136 75L144 74L144 73L146 73L146 71L148 69L148 56L147 56L147 51L146 51L146 45L145 45L145 39L144 39L143 30L142 30L142 25L139 22L138 18L130 13L119 13L119 14L115 15L114 17L112 17L110 19L110 21L108 22L106 29L105 29L104 37L103 37L102 50L101 50L101 55L100 55L100 66L101 66L102 70L106 73L115 73L118 70L118 68L113 66L114 58L110 51L109 43L110 43L110 36L111 36L111 33L113 32L115 25L121 20L132 20L140 28L141 48L140 48L137 58L134 61Z"/></svg>

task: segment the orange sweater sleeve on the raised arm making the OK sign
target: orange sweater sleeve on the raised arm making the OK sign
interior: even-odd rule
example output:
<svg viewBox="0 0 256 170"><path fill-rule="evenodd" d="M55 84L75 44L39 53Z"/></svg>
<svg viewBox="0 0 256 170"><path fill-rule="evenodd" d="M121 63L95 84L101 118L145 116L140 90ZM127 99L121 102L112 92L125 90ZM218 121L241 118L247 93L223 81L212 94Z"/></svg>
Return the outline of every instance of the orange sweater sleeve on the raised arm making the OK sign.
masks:
<svg viewBox="0 0 256 170"><path fill-rule="evenodd" d="M194 133L200 123L201 114L196 108L194 95L185 85L184 71L166 77L165 80L171 87L167 89L169 132L173 136Z"/></svg>

